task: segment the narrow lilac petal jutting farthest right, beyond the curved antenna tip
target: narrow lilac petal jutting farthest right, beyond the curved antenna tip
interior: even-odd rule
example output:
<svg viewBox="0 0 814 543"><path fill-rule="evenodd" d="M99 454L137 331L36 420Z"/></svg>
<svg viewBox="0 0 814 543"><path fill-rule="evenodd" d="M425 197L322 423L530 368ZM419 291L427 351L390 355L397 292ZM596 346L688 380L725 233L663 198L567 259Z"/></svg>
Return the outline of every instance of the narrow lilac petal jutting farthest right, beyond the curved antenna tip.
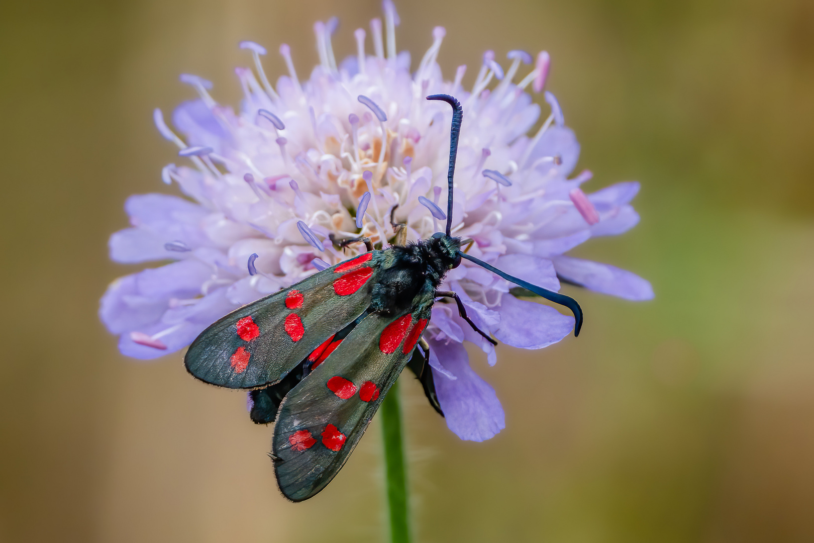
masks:
<svg viewBox="0 0 814 543"><path fill-rule="evenodd" d="M654 297L650 282L615 266L571 256L558 256L554 258L554 268L563 278L592 291L619 296L625 300L652 300Z"/></svg>

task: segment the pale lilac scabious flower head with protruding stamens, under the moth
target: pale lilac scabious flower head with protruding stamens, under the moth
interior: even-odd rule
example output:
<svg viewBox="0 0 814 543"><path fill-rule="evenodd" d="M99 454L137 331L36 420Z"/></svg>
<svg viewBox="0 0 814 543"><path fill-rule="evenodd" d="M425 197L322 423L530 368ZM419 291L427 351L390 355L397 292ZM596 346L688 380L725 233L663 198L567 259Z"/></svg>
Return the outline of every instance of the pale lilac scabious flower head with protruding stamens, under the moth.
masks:
<svg viewBox="0 0 814 543"><path fill-rule="evenodd" d="M122 263L158 267L116 279L101 300L100 317L120 335L129 357L150 359L186 347L218 318L317 269L365 250L341 250L331 238L368 236L387 244L396 223L408 239L443 230L449 153L449 106L428 94L452 94L463 106L457 154L453 235L472 239L468 252L507 273L557 291L560 280L628 300L653 296L650 283L610 265L564 253L589 238L635 226L629 202L637 182L586 195L584 171L571 176L580 152L554 94L550 114L533 134L549 55L536 62L510 51L508 68L488 50L475 84L462 85L466 66L445 81L436 63L444 28L410 72L407 51L397 52L398 15L385 2L385 28L370 21L374 54L365 30L354 36L357 55L336 63L331 35L336 20L314 24L320 62L300 80L283 44L288 74L271 85L261 64L263 46L242 42L252 68L236 68L243 100L235 111L221 105L212 84L190 75L198 97L173 112L177 132L155 110L160 134L179 148L178 162L161 178L177 195L133 195L125 210L130 227L110 239ZM532 64L519 76L524 64ZM181 134L181 135L178 135ZM395 208L395 211L393 211ZM169 261L169 262L168 262ZM505 344L543 348L571 331L574 319L544 304L513 296L514 285L462 261L446 279L470 317ZM449 428L465 440L486 440L504 427L494 390L470 368L463 342L494 348L438 302L424 337Z"/></svg>

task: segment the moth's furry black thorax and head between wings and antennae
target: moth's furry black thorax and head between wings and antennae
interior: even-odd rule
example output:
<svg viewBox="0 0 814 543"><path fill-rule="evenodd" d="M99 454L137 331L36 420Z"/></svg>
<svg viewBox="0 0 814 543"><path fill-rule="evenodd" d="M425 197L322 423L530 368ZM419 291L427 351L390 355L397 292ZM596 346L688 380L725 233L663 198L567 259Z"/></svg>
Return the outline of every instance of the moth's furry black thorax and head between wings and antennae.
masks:
<svg viewBox="0 0 814 543"><path fill-rule="evenodd" d="M434 237L383 251L382 270L373 287L371 309L390 312L414 307L426 299L427 310L450 269L460 261L461 239ZM422 305L425 305L422 303Z"/></svg>

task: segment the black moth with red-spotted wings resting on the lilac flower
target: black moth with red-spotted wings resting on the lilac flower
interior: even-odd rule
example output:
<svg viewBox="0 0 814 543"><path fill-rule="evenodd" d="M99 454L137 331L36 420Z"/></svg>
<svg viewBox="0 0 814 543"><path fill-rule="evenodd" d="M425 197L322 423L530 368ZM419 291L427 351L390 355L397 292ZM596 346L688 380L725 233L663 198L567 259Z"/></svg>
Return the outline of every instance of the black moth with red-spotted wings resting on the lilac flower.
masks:
<svg viewBox="0 0 814 543"><path fill-rule="evenodd" d="M438 290L462 259L571 309L574 335L579 335L582 310L574 299L466 254L462 239L451 235L463 112L448 94L427 99L453 108L446 231L405 243L402 229L396 243L381 250L370 239L342 240L343 247L364 242L368 251L235 310L209 326L186 352L186 369L195 378L248 389L252 420L276 420L270 456L280 490L291 501L307 500L330 483L408 363L431 405L443 414L428 367L429 348L421 339L437 298L453 299L461 317L497 344L466 315L455 292Z"/></svg>

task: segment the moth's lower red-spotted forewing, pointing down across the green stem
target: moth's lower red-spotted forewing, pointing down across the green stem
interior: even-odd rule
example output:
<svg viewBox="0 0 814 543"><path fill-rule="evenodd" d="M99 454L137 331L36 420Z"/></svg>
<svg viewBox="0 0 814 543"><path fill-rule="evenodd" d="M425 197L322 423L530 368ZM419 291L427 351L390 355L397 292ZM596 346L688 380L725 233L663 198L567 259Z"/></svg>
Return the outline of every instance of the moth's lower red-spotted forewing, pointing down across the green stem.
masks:
<svg viewBox="0 0 814 543"><path fill-rule="evenodd" d="M428 309L396 317L370 313L282 401L272 445L286 497L307 500L334 478L412 356L428 317Z"/></svg>

